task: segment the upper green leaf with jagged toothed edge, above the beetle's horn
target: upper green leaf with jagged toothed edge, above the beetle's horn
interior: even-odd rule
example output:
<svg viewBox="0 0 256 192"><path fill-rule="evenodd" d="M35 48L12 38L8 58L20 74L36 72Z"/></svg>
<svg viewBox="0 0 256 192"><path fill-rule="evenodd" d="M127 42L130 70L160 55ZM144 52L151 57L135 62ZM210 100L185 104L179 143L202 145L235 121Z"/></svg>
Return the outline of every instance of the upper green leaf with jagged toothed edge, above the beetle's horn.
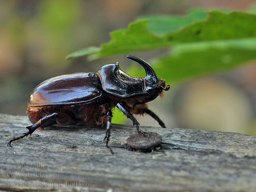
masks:
<svg viewBox="0 0 256 192"><path fill-rule="evenodd" d="M204 20L201 20L203 18L201 12L193 12L193 14L190 13L190 21L192 22L187 20L187 26L185 26L186 22L184 20L176 27L170 27L169 29L166 27L165 30L172 32L164 36L156 35L158 32L152 28L151 30L155 33L148 30L148 26L152 25L150 24L152 19L149 21L135 21L129 25L128 29L119 29L112 32L110 34L112 40L107 44L102 44L98 51L90 52L85 49L79 56L89 55L89 59L94 60L115 54L166 48L181 43L241 39L256 36L255 14L211 11L208 12L208 17ZM158 17L158 19L160 18ZM166 20L166 18L163 20ZM182 29L176 31L179 28Z"/></svg>

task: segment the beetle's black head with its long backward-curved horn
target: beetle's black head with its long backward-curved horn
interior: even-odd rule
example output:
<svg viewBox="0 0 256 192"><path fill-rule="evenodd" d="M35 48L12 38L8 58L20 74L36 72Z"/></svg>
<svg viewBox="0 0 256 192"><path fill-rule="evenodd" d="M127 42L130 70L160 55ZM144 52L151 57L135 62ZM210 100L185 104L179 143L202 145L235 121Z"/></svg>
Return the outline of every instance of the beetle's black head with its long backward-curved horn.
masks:
<svg viewBox="0 0 256 192"><path fill-rule="evenodd" d="M154 69L144 60L128 55L128 59L134 60L138 62L146 71L145 80L145 91L149 94L158 95L159 93L164 91L168 91L170 89L170 85L165 85L165 80L160 79Z"/></svg>

